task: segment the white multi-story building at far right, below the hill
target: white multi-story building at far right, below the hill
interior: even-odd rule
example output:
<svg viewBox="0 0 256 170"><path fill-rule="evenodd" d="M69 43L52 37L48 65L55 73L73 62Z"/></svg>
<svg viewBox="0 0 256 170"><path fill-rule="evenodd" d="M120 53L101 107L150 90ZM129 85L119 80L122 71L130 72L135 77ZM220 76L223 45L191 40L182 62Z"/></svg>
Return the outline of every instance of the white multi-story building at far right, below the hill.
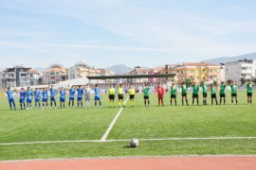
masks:
<svg viewBox="0 0 256 170"><path fill-rule="evenodd" d="M255 77L256 59L243 59L228 62L225 65L226 80L231 79L240 82L241 78Z"/></svg>

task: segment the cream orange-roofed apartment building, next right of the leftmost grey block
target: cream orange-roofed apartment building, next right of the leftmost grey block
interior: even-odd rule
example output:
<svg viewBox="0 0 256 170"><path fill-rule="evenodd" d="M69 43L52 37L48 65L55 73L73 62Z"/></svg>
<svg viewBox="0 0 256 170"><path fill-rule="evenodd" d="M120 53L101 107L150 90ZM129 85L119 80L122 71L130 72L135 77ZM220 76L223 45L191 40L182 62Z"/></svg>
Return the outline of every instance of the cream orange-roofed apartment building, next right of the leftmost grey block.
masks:
<svg viewBox="0 0 256 170"><path fill-rule="evenodd" d="M46 84L58 84L68 79L68 69L60 64L53 64L46 70L43 77Z"/></svg>

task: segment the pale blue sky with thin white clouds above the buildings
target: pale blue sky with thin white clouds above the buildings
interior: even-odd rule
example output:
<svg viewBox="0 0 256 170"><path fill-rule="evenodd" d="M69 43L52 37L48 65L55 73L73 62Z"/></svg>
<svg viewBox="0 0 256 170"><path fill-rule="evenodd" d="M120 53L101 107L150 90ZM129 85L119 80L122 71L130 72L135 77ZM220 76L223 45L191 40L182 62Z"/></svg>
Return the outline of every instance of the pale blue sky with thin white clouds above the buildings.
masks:
<svg viewBox="0 0 256 170"><path fill-rule="evenodd" d="M0 0L0 69L155 67L256 51L255 0Z"/></svg>

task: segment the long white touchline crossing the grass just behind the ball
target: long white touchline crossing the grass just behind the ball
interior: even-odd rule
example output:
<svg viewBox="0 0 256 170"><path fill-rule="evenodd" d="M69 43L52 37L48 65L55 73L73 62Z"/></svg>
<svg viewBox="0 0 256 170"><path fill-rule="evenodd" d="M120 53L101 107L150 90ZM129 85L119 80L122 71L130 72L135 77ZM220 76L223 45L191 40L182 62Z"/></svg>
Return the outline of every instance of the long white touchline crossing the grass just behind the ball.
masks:
<svg viewBox="0 0 256 170"><path fill-rule="evenodd" d="M210 138L159 138L159 139L139 139L138 141L210 141L210 140L245 140L256 139L256 137L210 137ZM16 144L65 144L65 143L115 143L129 142L130 140L81 140L81 141L46 141L46 142L26 142L26 143L0 143L0 145Z"/></svg>

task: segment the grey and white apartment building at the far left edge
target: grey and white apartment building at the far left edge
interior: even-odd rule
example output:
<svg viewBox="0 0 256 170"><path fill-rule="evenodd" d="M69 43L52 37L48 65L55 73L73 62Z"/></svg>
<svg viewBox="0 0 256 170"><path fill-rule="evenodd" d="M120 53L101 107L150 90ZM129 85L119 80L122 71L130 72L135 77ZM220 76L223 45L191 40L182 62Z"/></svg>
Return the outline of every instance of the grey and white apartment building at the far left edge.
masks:
<svg viewBox="0 0 256 170"><path fill-rule="evenodd" d="M23 65L16 65L12 68L7 68L0 74L1 87L24 87L31 85L38 85L38 79L40 73L35 70L31 70L30 67L24 67Z"/></svg>

